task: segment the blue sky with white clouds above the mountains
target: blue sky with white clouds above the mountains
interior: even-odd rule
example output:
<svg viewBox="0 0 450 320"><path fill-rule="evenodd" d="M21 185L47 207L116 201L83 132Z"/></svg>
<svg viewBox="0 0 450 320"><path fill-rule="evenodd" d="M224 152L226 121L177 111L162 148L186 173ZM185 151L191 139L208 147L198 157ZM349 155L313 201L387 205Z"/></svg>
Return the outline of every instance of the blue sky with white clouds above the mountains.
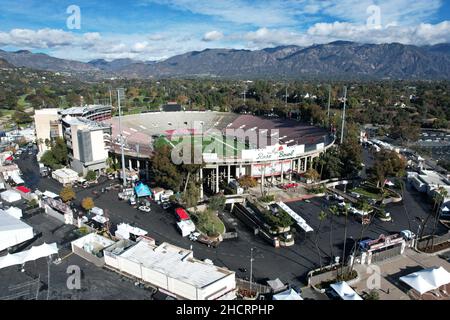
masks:
<svg viewBox="0 0 450 320"><path fill-rule="evenodd" d="M80 8L79 30L67 26L70 5ZM0 48L83 61L335 40L450 42L450 1L0 0Z"/></svg>

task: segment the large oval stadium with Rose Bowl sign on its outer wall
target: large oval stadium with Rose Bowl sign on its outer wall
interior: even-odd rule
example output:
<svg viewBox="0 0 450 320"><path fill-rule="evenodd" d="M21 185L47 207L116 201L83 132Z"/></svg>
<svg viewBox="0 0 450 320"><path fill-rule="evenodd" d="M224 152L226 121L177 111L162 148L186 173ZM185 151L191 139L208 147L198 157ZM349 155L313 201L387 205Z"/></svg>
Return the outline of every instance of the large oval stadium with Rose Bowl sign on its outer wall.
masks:
<svg viewBox="0 0 450 320"><path fill-rule="evenodd" d="M330 148L330 131L278 117L224 112L151 112L107 121L112 127L110 152L120 157L120 129L130 168L148 168L148 159L159 144L174 149L192 145L200 150L200 179L205 188L219 192L221 182L242 176L283 183L304 173L314 158ZM183 147L179 147L181 145ZM189 142L186 144L186 142ZM200 151L197 151L200 152ZM190 158L189 158L190 159ZM194 159L194 158L193 158ZM148 170L147 170L148 171Z"/></svg>

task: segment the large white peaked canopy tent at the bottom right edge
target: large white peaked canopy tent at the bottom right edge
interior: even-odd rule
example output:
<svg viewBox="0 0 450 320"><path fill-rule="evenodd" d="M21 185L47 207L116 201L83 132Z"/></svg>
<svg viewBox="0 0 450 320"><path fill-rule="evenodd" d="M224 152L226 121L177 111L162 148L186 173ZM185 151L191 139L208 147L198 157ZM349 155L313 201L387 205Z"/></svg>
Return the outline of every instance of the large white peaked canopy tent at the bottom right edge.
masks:
<svg viewBox="0 0 450 320"><path fill-rule="evenodd" d="M424 269L401 277L401 281L408 286L424 294L450 283L450 273L443 267Z"/></svg>

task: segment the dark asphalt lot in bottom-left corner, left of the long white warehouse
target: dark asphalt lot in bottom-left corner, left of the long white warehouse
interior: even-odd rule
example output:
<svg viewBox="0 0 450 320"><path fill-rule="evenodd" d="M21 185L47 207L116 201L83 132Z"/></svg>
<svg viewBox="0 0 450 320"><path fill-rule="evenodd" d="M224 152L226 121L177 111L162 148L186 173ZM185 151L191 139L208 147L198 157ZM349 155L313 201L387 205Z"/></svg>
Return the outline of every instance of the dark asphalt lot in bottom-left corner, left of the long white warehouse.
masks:
<svg viewBox="0 0 450 320"><path fill-rule="evenodd" d="M134 282L121 275L99 269L90 262L71 254L70 241L76 235L73 226L63 225L44 214L33 216L25 222L42 237L32 245L56 242L60 264L48 263L46 258L27 262L24 272L21 266L0 269L0 299L39 300L132 300L151 299L153 292L135 286ZM29 248L25 248L27 250ZM80 289L67 286L69 266L81 270Z"/></svg>

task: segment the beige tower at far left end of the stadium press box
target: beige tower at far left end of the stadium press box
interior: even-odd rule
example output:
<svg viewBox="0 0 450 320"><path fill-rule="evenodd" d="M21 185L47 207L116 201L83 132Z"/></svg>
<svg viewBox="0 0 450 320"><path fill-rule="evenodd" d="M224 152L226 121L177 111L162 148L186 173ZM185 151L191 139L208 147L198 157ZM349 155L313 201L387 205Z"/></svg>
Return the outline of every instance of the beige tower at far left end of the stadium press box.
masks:
<svg viewBox="0 0 450 320"><path fill-rule="evenodd" d="M39 149L37 158L39 160L45 151L50 149L49 142L62 136L59 109L36 110L34 123L36 128L36 141Z"/></svg>

